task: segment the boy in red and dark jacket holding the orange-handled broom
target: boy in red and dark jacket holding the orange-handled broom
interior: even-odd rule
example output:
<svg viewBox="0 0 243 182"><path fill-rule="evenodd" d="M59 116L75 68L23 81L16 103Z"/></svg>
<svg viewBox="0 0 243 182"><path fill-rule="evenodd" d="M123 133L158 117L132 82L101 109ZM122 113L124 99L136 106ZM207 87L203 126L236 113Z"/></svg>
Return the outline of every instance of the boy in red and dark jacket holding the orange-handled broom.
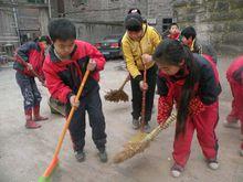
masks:
<svg viewBox="0 0 243 182"><path fill-rule="evenodd" d="M53 98L66 104L66 116L71 106L76 107L68 127L75 158L78 162L85 160L85 111L87 111L92 139L99 151L99 160L106 162L105 118L98 85L99 71L104 69L105 58L95 46L76 40L75 26L66 19L50 22L49 34L53 45L43 66L46 86ZM86 69L91 71L91 75L80 101L75 101Z"/></svg>

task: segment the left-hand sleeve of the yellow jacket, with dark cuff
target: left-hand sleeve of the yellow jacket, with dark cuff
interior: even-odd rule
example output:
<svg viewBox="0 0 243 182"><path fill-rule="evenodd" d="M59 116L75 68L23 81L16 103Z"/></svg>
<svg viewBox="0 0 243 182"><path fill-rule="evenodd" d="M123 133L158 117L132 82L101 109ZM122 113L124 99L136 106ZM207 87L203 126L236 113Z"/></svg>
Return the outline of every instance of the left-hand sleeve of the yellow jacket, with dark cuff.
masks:
<svg viewBox="0 0 243 182"><path fill-rule="evenodd" d="M138 67L135 64L134 55L131 53L130 46L127 41L123 40L122 49L123 49L123 54L124 54L124 58L127 64L128 72L130 73L133 78L135 78L137 81L142 81L142 76L141 76L140 72L138 71Z"/></svg>

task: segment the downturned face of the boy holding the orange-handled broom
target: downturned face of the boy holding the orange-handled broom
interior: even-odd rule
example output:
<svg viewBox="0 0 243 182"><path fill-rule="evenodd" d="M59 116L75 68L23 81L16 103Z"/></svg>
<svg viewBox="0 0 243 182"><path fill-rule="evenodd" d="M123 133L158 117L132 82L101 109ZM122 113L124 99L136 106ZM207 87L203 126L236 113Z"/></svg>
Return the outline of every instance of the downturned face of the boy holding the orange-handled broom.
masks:
<svg viewBox="0 0 243 182"><path fill-rule="evenodd" d="M74 40L67 40L67 41L62 41L62 40L56 40L54 43L54 47L59 56L61 57L67 57L74 49Z"/></svg>

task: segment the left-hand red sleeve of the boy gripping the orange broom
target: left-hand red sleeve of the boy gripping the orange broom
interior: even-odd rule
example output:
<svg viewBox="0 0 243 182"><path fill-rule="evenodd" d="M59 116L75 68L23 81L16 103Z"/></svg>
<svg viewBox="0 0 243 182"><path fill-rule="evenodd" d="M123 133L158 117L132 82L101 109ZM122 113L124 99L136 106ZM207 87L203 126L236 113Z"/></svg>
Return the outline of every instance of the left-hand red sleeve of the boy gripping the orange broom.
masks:
<svg viewBox="0 0 243 182"><path fill-rule="evenodd" d="M47 64L46 62L44 62L43 72L46 87L53 98L66 104L68 98L74 95L72 89L62 82L52 65Z"/></svg>

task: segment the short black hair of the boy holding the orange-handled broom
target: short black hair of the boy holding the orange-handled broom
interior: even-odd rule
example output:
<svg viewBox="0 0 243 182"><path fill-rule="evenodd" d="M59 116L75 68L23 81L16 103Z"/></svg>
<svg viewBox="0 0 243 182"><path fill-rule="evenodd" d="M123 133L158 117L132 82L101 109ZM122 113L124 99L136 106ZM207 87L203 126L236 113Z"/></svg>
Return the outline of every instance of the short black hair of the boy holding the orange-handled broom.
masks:
<svg viewBox="0 0 243 182"><path fill-rule="evenodd" d="M75 25L67 19L56 19L49 23L49 34L53 42L76 39Z"/></svg>

